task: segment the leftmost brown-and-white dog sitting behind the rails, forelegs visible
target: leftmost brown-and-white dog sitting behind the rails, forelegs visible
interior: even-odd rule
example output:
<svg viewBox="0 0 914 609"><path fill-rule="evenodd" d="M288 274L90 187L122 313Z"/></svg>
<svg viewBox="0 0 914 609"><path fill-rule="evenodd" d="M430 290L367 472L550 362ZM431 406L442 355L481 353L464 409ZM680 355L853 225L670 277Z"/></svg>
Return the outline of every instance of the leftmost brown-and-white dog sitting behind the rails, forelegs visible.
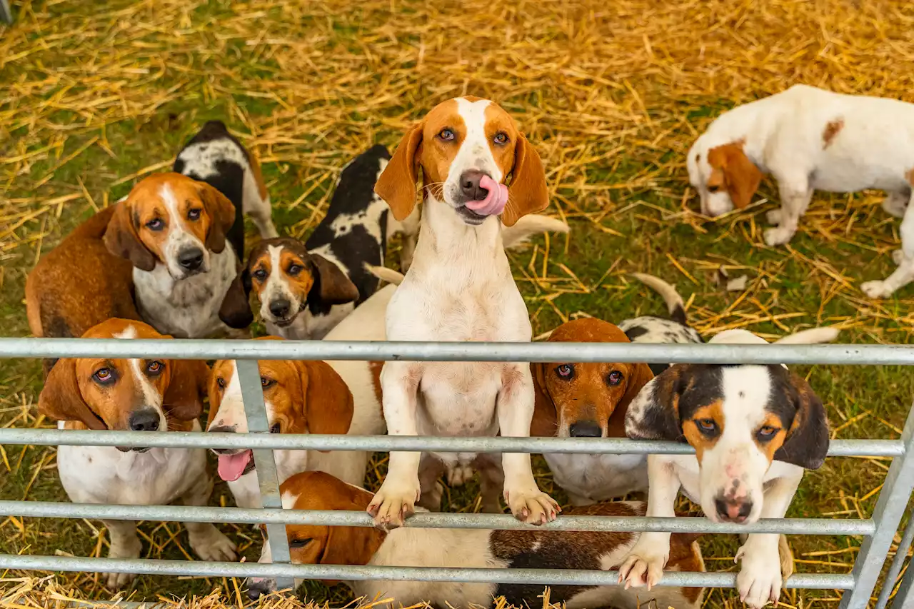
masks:
<svg viewBox="0 0 914 609"><path fill-rule="evenodd" d="M151 326L109 319L83 338L169 338ZM199 432L207 365L185 359L61 358L38 396L38 411L60 429ZM205 506L213 488L202 448L58 447L58 474L75 503L160 506L180 500ZM140 558L136 524L103 520L111 534L109 558ZM212 524L186 523L190 547L204 561L234 561L235 544ZM117 588L131 573L108 573Z"/></svg>

